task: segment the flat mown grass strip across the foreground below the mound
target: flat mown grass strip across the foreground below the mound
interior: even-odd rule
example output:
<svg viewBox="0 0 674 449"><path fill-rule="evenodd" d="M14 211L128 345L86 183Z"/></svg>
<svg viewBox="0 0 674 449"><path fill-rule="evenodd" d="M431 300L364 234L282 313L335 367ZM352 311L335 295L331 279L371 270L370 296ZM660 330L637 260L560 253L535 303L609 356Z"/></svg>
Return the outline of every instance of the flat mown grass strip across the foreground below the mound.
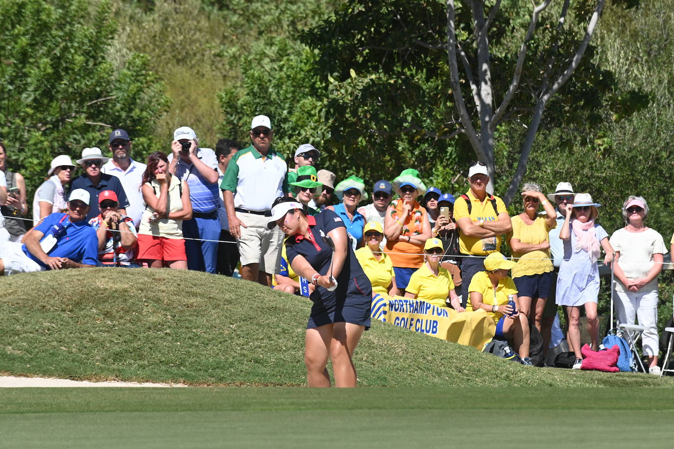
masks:
<svg viewBox="0 0 674 449"><path fill-rule="evenodd" d="M3 448L671 447L660 388L6 388ZM545 435L543 436L543 429Z"/></svg>

